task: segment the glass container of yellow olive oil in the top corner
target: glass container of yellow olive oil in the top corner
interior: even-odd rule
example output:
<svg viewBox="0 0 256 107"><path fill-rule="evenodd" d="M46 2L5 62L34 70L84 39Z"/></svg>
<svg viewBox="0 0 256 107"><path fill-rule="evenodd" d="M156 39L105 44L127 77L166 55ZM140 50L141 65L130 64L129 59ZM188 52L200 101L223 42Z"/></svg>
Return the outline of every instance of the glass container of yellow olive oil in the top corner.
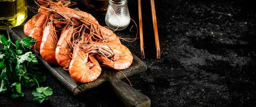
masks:
<svg viewBox="0 0 256 107"><path fill-rule="evenodd" d="M26 18L26 0L0 0L0 29L19 26Z"/></svg>

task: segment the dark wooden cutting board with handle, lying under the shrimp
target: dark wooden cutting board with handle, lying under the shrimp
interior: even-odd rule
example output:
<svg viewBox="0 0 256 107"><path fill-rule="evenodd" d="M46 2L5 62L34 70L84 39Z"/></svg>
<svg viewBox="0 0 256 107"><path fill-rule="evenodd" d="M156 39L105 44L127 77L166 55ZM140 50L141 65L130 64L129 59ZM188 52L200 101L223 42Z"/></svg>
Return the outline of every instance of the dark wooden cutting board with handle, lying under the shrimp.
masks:
<svg viewBox="0 0 256 107"><path fill-rule="evenodd" d="M19 40L26 37L23 33L22 25L9 29L9 32L13 40ZM147 70L147 65L142 62L141 59L135 55L133 55L133 57L134 59L131 66L125 70L121 70L122 73L116 72L111 68L103 67L99 78L90 83L78 83L72 79L69 72L63 70L61 66L48 64L41 57L39 57L39 59L50 73L52 73L61 83L63 83L65 87L74 93L74 95L84 93L85 91L95 88L104 82L108 82L108 84L112 86L116 95L127 106L150 106L150 99L147 96L120 80L125 78L125 75L126 77L129 77Z"/></svg>

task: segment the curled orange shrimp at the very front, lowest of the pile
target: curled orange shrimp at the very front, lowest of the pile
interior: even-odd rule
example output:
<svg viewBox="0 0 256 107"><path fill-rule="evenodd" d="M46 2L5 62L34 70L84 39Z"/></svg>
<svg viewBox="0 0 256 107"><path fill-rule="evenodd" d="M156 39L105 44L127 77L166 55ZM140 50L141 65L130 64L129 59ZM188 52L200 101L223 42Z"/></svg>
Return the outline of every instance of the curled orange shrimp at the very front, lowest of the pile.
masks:
<svg viewBox="0 0 256 107"><path fill-rule="evenodd" d="M69 74L78 82L91 82L96 80L101 73L101 67L96 58L75 47L73 58L69 65Z"/></svg>

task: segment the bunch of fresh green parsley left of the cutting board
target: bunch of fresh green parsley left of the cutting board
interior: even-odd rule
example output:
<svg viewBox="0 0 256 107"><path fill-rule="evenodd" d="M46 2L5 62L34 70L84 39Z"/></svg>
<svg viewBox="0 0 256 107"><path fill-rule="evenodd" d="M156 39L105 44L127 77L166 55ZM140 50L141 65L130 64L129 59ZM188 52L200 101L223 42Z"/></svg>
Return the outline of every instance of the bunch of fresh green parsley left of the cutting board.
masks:
<svg viewBox="0 0 256 107"><path fill-rule="evenodd" d="M35 44L31 37L12 43L10 36L0 35L0 94L11 94L12 98L23 97L23 88L35 88L32 91L34 101L42 103L53 94L52 88L40 87L39 82L46 80L38 68L38 58L30 47Z"/></svg>

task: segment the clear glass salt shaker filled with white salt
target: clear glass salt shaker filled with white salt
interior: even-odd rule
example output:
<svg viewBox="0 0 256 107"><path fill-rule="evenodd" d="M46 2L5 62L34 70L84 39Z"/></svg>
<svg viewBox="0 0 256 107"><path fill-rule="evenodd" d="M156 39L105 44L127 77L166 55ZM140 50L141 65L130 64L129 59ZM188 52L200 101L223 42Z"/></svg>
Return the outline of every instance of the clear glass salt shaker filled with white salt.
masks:
<svg viewBox="0 0 256 107"><path fill-rule="evenodd" d="M113 30L123 30L130 24L127 0L109 0L106 25Z"/></svg>

